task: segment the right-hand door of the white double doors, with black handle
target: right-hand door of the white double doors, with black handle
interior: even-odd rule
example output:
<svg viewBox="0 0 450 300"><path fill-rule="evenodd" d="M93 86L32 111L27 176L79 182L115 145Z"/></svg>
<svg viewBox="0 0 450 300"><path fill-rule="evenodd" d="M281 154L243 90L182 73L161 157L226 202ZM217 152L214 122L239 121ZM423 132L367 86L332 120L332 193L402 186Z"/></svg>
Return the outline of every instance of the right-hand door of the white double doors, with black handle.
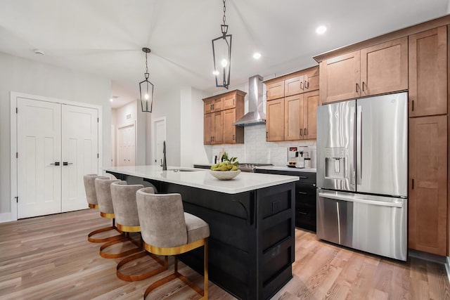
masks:
<svg viewBox="0 0 450 300"><path fill-rule="evenodd" d="M83 176L98 169L98 110L62 105L62 211L86 209Z"/></svg>

